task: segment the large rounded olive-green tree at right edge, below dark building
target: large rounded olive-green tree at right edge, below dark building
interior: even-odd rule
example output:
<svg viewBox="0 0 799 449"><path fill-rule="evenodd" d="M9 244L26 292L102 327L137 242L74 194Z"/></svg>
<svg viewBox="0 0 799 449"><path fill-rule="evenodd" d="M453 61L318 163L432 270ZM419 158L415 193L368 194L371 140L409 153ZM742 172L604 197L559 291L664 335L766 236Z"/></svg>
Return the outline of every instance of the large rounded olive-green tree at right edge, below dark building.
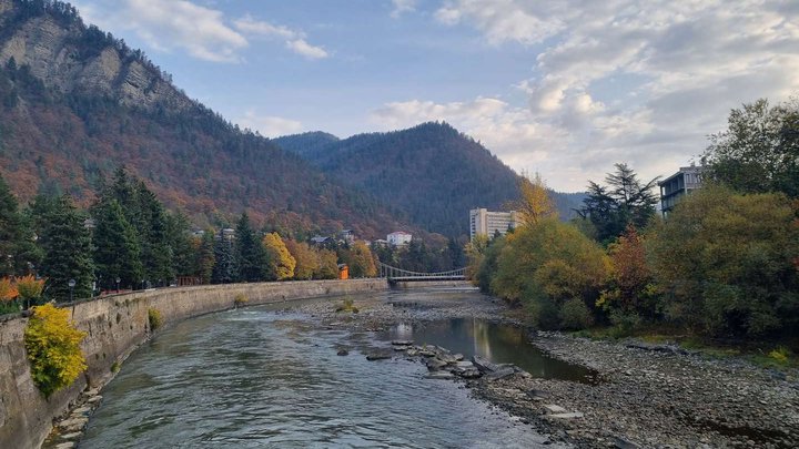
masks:
<svg viewBox="0 0 799 449"><path fill-rule="evenodd" d="M706 185L682 198L647 244L667 316L714 336L796 336L796 217L783 194Z"/></svg>

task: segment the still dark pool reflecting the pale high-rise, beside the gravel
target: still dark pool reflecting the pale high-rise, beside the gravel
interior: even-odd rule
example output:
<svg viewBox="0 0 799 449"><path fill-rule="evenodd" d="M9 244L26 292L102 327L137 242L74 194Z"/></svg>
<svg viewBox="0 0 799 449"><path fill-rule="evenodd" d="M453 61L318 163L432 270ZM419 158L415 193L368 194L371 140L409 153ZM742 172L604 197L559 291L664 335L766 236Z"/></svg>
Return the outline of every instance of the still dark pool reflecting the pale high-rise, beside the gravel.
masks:
<svg viewBox="0 0 799 449"><path fill-rule="evenodd" d="M534 377L594 382L595 373L579 365L549 357L527 341L524 329L477 318L425 323L414 328L401 324L387 335L416 344L437 345L465 357L478 355L497 364L515 364Z"/></svg>

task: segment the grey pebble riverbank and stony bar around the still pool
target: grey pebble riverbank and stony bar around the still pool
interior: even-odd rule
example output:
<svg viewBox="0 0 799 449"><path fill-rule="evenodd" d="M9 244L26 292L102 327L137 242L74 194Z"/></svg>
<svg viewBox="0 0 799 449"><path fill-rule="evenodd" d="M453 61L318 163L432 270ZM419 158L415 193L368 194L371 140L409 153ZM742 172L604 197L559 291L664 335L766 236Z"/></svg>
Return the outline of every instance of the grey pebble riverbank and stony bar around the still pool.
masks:
<svg viewBox="0 0 799 449"><path fill-rule="evenodd" d="M336 313L331 304L305 304L299 310L322 326L358 331L462 317L515 323L502 302L478 294L419 293L395 299L390 294L354 305L357 314ZM737 358L557 333L532 333L530 344L596 370L598 381L537 379L524 373L463 381L475 397L549 433L552 441L620 448L799 446L795 370L776 373Z"/></svg>

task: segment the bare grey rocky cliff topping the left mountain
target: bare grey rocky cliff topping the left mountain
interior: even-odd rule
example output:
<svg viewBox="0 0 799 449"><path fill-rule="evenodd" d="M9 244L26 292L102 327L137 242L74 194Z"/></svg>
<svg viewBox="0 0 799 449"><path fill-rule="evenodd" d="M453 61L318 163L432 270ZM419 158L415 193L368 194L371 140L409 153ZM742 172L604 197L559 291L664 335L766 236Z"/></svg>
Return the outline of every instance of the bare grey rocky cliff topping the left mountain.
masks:
<svg viewBox="0 0 799 449"><path fill-rule="evenodd" d="M0 0L0 63L13 58L61 92L104 94L122 104L183 110L194 103L140 53L87 27L64 3ZM53 11L53 8L60 8Z"/></svg>

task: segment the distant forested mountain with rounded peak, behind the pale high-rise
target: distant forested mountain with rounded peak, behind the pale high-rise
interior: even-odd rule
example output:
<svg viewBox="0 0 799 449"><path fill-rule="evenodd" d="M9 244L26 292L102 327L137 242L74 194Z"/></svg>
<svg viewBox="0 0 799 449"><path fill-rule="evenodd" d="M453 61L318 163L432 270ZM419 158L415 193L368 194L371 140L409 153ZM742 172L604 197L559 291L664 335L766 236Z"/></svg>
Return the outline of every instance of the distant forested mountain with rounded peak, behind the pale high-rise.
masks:
<svg viewBox="0 0 799 449"><path fill-rule="evenodd" d="M275 139L337 182L366 190L414 224L451 236L468 234L468 211L504 210L518 200L518 175L479 142L447 123L338 140L325 133ZM564 218L581 194L553 197Z"/></svg>

